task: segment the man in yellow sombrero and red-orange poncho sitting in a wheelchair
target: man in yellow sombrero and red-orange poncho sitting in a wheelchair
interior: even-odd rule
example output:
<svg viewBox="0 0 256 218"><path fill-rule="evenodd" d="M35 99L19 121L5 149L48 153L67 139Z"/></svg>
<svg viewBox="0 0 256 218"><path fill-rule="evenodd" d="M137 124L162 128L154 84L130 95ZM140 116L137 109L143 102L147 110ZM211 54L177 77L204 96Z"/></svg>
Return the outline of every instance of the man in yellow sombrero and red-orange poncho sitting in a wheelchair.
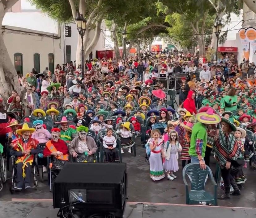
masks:
<svg viewBox="0 0 256 218"><path fill-rule="evenodd" d="M24 123L22 129L16 130L16 133L21 135L21 138L16 138L12 141L11 155L15 156L16 167L16 186L15 190L21 191L25 183L25 189L30 186L31 166L34 160L34 155L41 152L39 142L31 137L35 131L29 128L27 123Z"/></svg>

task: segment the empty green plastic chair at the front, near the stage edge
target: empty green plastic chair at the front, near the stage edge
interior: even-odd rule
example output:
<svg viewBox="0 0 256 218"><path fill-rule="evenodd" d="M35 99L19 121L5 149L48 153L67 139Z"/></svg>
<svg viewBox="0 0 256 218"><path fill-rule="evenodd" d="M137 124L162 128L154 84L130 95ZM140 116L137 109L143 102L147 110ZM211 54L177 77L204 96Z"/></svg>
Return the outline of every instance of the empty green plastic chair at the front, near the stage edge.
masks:
<svg viewBox="0 0 256 218"><path fill-rule="evenodd" d="M186 175L190 179L191 190L189 191ZM205 181L208 179L214 185L214 194L205 191ZM186 204L214 204L217 202L217 183L215 182L210 167L206 166L206 170L201 170L199 163L187 164L182 171L183 181L186 185Z"/></svg>

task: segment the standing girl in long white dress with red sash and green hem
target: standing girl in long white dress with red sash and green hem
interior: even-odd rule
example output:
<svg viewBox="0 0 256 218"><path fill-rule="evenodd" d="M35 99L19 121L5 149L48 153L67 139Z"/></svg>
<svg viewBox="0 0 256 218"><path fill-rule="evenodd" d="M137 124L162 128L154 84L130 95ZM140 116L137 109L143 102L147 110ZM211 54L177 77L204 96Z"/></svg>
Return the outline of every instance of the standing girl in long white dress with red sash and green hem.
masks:
<svg viewBox="0 0 256 218"><path fill-rule="evenodd" d="M162 162L162 139L160 137L160 131L158 129L151 130L151 138L148 140L149 147L151 149L149 157L150 166L150 178L157 182L164 178L164 168Z"/></svg>

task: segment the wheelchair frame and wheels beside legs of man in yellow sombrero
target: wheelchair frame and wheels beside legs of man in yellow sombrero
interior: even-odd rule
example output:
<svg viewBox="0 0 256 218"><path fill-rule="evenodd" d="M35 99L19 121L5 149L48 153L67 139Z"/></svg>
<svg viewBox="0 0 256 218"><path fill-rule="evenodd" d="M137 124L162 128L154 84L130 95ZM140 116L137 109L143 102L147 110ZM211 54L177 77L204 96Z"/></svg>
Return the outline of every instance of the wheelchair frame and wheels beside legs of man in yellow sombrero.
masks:
<svg viewBox="0 0 256 218"><path fill-rule="evenodd" d="M35 188L37 190L38 182L36 179L36 168L38 164L37 154L34 156L34 161L32 163L32 172L33 172L33 179L34 179L34 186L32 188ZM12 174L11 174L11 187L10 192L13 194L15 191L14 187L16 186L16 171L17 171L17 165L15 164L15 161L17 160L17 157L11 156L11 167L12 167Z"/></svg>

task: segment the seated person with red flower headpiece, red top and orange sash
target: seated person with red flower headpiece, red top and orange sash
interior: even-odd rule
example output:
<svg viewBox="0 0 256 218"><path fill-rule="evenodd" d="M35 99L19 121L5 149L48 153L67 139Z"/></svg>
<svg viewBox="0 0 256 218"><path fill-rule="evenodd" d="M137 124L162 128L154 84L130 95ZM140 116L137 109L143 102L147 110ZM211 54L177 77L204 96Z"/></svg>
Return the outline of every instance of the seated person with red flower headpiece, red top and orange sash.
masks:
<svg viewBox="0 0 256 218"><path fill-rule="evenodd" d="M61 130L59 128L53 128L51 130L51 134L52 139L46 142L43 155L44 157L53 156L51 160L51 171L53 173L53 177L55 178L59 174L65 162L69 160L69 153L66 142L60 139Z"/></svg>

